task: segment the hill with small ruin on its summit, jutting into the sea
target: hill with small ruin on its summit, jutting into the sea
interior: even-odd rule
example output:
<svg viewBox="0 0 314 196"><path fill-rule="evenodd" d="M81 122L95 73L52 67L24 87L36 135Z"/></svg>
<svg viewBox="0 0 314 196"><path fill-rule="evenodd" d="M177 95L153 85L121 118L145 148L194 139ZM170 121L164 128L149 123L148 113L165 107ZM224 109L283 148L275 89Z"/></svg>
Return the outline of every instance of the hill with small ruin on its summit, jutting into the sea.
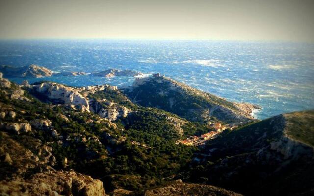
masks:
<svg viewBox="0 0 314 196"><path fill-rule="evenodd" d="M157 107L190 121L241 124L253 121L256 105L234 103L163 77L137 78L125 93L135 103Z"/></svg>

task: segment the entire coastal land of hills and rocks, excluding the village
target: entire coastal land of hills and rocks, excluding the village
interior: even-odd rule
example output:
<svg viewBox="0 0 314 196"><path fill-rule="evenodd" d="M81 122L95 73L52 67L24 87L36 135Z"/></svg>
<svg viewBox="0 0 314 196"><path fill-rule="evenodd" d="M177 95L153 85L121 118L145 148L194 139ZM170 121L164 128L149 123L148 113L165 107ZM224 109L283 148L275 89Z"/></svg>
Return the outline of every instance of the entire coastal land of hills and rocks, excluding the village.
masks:
<svg viewBox="0 0 314 196"><path fill-rule="evenodd" d="M256 108L160 75L121 91L0 73L0 195L313 195L314 111L258 121ZM176 144L209 122L239 127Z"/></svg>

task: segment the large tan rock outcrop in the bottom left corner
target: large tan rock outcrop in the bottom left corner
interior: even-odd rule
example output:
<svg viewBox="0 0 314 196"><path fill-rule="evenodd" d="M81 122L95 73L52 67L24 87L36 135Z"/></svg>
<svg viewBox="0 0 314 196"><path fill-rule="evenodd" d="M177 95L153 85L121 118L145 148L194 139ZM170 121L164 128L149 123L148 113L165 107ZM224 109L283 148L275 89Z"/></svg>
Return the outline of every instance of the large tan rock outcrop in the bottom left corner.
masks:
<svg viewBox="0 0 314 196"><path fill-rule="evenodd" d="M107 196L103 182L70 171L47 171L29 179L0 182L0 193L26 196Z"/></svg>

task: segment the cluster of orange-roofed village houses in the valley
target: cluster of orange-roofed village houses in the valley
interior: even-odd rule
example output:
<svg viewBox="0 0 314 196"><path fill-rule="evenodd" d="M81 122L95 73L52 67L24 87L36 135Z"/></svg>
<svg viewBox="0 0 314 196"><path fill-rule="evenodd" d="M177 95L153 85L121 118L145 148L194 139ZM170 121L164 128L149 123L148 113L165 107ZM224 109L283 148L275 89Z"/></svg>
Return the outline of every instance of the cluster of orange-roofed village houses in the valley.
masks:
<svg viewBox="0 0 314 196"><path fill-rule="evenodd" d="M209 127L213 129L201 136L190 136L185 140L177 140L176 144L183 144L187 146L204 145L206 141L216 138L222 131L226 129L235 129L236 126L222 125L221 123L209 123Z"/></svg>

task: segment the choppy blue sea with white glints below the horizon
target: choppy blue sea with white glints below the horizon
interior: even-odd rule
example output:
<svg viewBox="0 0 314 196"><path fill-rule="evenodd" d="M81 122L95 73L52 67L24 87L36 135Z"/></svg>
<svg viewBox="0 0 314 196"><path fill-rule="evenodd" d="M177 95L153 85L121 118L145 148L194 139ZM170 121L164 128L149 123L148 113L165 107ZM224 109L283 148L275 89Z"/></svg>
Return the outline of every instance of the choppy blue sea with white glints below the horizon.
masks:
<svg viewBox="0 0 314 196"><path fill-rule="evenodd" d="M10 40L0 41L0 64L37 64L54 72L109 68L163 73L197 89L262 106L254 115L314 108L314 44L244 41ZM21 83L24 79L10 78ZM134 77L28 78L70 86L129 86Z"/></svg>

